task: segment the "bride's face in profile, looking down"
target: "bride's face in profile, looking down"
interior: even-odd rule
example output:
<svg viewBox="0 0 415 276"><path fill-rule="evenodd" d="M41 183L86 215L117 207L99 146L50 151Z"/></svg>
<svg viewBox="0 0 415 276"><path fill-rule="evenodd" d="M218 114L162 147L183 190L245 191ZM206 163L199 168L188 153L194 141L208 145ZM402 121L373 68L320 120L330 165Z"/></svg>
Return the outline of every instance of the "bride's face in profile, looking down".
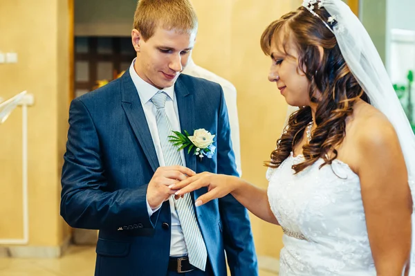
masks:
<svg viewBox="0 0 415 276"><path fill-rule="evenodd" d="M273 64L270 67L268 80L277 83L279 91L288 104L295 107L309 105L310 82L299 68L297 48L290 41L282 45L284 34L282 36L271 42L270 57L273 59Z"/></svg>

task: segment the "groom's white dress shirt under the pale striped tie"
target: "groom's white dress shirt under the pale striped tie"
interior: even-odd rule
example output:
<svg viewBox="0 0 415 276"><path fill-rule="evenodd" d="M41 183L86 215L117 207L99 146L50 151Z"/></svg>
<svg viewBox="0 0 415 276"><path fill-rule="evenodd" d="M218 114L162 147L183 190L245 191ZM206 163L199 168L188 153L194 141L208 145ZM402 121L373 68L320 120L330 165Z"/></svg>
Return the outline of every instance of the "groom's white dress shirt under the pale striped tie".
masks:
<svg viewBox="0 0 415 276"><path fill-rule="evenodd" d="M157 89L156 87L142 80L142 78L136 73L136 70L134 69L135 62L136 62L136 59L134 59L133 62L131 63L131 66L129 68L129 73L138 91L138 95L140 97L140 101L142 104L142 109L144 109L145 118L147 119L147 124L149 125L149 129L151 133L151 138L153 139L154 147L156 148L158 163L160 167L164 167L165 160L163 156L163 150L161 149L160 138L158 137L158 129L157 129L157 122L156 122L157 111L156 111L156 107L154 106L153 102L150 101L151 98L153 98L153 96L156 95L158 91L160 91L160 89ZM163 89L163 91L165 91L165 93L167 93L167 95L169 96L167 97L167 101L165 105L165 111L167 113L167 117L169 118L174 131L181 131L180 121L178 120L177 100L174 95L174 86L167 87ZM181 154L183 166L185 166L186 160L185 160L185 154L183 150L181 150L180 154ZM183 236L180 221L178 220L178 215L176 212L176 207L174 206L174 201L173 201L172 196L169 199L169 203L170 203L170 210L172 212L172 225L170 228L172 231L172 239L170 241L170 256L174 256L174 257L185 256L187 255L185 238ZM158 208L151 210L149 203L147 201L147 211L149 212L149 217L151 217L151 215L154 214L154 212L160 209L160 207L161 205Z"/></svg>

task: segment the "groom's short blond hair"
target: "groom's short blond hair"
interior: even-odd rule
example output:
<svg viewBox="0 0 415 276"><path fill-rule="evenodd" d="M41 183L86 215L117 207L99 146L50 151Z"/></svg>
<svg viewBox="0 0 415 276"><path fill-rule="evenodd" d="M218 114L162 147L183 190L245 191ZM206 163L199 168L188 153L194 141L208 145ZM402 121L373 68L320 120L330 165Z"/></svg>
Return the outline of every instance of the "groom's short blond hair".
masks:
<svg viewBox="0 0 415 276"><path fill-rule="evenodd" d="M147 41L161 27L179 33L197 31L196 12L188 0L139 0L134 14L133 28Z"/></svg>

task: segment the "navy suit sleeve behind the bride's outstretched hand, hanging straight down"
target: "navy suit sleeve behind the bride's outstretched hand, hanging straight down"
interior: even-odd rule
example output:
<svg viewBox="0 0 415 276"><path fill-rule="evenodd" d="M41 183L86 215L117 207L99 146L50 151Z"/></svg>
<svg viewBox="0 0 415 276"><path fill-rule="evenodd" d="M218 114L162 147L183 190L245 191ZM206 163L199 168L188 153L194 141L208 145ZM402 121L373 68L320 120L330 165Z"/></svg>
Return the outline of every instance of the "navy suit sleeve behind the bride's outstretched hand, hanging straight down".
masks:
<svg viewBox="0 0 415 276"><path fill-rule="evenodd" d="M237 176L230 139L228 111L221 90L217 133L218 174ZM219 199L223 224L223 242L232 275L258 275L257 256L248 211L230 194Z"/></svg>

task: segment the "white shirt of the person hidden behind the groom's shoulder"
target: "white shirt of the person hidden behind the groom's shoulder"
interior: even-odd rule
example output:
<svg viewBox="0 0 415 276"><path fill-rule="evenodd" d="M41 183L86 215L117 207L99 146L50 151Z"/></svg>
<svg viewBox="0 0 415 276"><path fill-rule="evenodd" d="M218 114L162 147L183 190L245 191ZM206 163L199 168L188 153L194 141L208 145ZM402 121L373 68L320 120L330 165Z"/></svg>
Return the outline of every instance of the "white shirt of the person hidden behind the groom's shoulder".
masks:
<svg viewBox="0 0 415 276"><path fill-rule="evenodd" d="M183 74L192 75L194 77L201 77L211 82L216 82L221 84L223 89L223 95L225 95L226 107L228 107L229 115L229 124L230 124L230 138L232 140L232 148L235 154L235 163L237 163L237 172L239 176L242 175L241 170L241 143L239 139L239 119L238 119L238 109L237 109L237 89L235 86L225 80L223 77L219 77L205 68L194 64L192 58L187 62Z"/></svg>

